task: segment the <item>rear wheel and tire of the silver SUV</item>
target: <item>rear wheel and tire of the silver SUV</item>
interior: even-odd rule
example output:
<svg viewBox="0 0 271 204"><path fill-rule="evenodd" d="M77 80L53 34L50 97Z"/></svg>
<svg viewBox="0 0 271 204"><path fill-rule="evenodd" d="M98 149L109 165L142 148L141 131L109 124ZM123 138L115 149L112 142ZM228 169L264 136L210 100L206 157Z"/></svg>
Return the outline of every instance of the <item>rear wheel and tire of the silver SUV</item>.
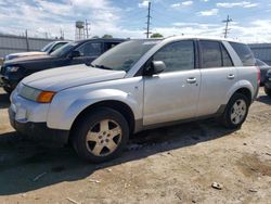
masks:
<svg viewBox="0 0 271 204"><path fill-rule="evenodd" d="M242 93L234 93L227 104L221 123L230 129L241 128L249 110L249 101Z"/></svg>

